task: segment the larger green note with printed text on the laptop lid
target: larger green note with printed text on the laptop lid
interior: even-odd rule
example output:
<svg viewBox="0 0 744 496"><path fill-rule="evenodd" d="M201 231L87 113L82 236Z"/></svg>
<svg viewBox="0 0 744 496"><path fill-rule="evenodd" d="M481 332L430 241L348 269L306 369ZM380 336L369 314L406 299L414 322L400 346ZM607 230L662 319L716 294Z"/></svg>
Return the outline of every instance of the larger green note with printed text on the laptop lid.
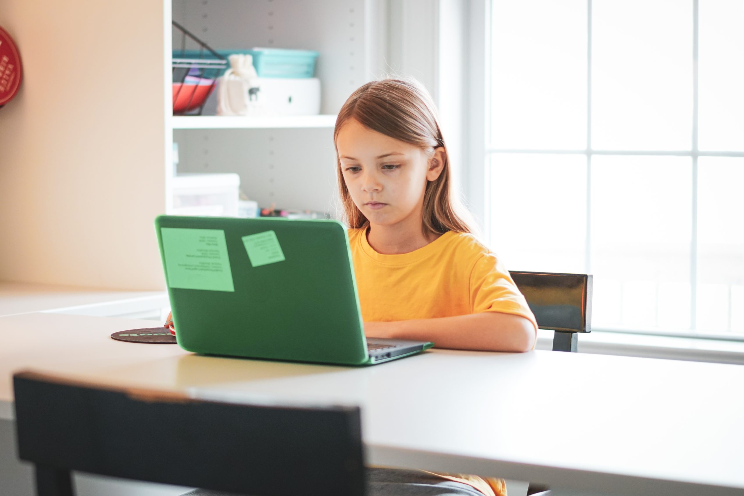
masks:
<svg viewBox="0 0 744 496"><path fill-rule="evenodd" d="M161 228L168 286L206 291L235 288L222 229Z"/></svg>

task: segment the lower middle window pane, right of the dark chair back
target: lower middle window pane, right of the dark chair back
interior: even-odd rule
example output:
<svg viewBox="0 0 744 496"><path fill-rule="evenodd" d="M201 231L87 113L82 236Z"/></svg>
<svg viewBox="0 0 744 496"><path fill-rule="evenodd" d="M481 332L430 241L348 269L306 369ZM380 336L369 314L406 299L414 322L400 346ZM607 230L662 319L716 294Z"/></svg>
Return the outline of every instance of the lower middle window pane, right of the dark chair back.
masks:
<svg viewBox="0 0 744 496"><path fill-rule="evenodd" d="M592 158L594 325L690 326L691 211L691 158Z"/></svg>

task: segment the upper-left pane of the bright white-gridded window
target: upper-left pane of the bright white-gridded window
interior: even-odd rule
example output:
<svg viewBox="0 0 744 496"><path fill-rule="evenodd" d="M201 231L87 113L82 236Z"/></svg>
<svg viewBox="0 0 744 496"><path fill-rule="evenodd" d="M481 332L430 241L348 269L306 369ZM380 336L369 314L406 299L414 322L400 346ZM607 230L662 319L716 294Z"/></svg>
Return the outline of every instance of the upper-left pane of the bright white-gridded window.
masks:
<svg viewBox="0 0 744 496"><path fill-rule="evenodd" d="M586 0L493 7L493 146L585 149Z"/></svg>

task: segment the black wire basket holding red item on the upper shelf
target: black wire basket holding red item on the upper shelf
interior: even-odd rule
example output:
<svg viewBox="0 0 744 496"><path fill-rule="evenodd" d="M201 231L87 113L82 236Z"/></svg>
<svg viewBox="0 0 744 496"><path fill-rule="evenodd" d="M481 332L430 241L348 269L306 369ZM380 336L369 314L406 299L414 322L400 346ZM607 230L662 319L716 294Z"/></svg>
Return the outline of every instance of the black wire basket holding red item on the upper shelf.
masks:
<svg viewBox="0 0 744 496"><path fill-rule="evenodd" d="M180 50L173 51L173 115L202 115L228 59L178 22L173 21L173 28L173 44L176 45L176 36L181 39ZM187 42L194 48L187 49Z"/></svg>

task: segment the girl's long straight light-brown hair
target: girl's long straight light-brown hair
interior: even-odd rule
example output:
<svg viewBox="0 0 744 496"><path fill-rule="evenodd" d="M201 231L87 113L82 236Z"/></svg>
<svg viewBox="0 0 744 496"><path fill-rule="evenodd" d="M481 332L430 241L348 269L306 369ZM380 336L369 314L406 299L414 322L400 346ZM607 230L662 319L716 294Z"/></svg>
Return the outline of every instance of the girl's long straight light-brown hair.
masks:
<svg viewBox="0 0 744 496"><path fill-rule="evenodd" d="M372 81L351 94L339 111L333 144L344 123L356 119L362 126L390 136L405 143L420 147L432 157L434 149L444 147L442 173L434 181L426 183L423 196L424 232L443 234L447 231L473 233L469 213L452 194L452 178L449 170L449 153L442 138L434 101L429 91L413 78L385 78ZM336 171L339 177L339 193L344 217L350 228L366 228L369 220L351 200L349 190L341 173L339 149L336 147ZM466 220L467 219L467 220Z"/></svg>

